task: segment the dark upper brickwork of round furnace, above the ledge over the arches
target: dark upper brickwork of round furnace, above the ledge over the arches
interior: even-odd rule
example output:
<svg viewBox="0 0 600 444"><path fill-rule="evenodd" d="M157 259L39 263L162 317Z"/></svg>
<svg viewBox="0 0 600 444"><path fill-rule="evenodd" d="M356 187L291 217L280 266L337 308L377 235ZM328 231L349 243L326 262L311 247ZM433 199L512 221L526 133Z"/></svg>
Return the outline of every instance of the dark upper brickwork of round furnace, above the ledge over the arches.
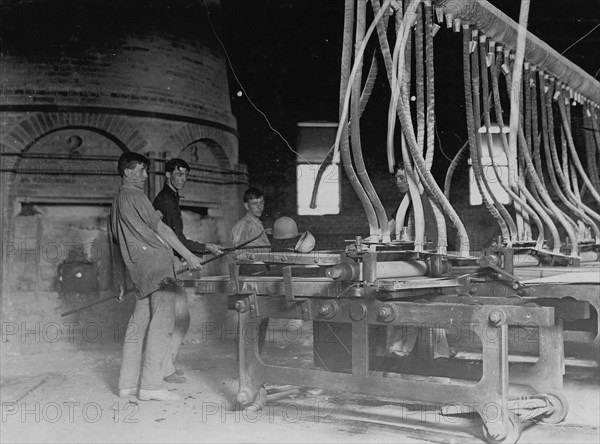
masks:
<svg viewBox="0 0 600 444"><path fill-rule="evenodd" d="M234 127L202 3L167 3L97 0L73 15L60 1L3 10L0 104L143 110Z"/></svg>

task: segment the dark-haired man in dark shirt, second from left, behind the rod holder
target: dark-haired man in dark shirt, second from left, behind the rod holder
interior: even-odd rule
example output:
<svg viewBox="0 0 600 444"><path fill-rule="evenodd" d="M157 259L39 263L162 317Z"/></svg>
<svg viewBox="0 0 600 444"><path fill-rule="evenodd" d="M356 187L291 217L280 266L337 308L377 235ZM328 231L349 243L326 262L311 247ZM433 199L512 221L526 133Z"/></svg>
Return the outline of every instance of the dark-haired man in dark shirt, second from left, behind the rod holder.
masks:
<svg viewBox="0 0 600 444"><path fill-rule="evenodd" d="M183 233L183 219L181 217L181 208L179 208L179 191L183 189L190 173L190 166L183 159L171 159L165 164L165 184L163 189L154 198L154 208L160 211L163 215L163 222L168 225L177 238L183 245L196 255L221 254L222 247L216 244L204 244L188 239ZM177 255L177 253L176 253ZM179 259L181 257L177 255ZM169 346L169 353L165 358L165 381L169 383L181 384L186 381L184 372L181 369L175 368L175 361L179 347L183 343L185 334L189 327L189 305L187 300L187 292L185 288L178 287L176 303L178 303L178 312L184 313L182 317L186 318L181 327L175 328ZM185 316L187 314L187 316ZM176 327L178 325L176 324Z"/></svg>

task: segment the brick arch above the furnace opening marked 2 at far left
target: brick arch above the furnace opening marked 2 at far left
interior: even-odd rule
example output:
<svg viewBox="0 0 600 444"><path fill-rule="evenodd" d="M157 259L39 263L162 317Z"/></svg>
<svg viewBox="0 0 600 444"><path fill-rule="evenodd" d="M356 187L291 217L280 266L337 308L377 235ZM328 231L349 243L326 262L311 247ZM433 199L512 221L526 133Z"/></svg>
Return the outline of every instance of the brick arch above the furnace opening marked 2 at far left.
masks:
<svg viewBox="0 0 600 444"><path fill-rule="evenodd" d="M7 148L26 153L38 140L64 129L86 129L99 133L123 151L142 151L148 144L127 118L113 114L37 113L6 135Z"/></svg>

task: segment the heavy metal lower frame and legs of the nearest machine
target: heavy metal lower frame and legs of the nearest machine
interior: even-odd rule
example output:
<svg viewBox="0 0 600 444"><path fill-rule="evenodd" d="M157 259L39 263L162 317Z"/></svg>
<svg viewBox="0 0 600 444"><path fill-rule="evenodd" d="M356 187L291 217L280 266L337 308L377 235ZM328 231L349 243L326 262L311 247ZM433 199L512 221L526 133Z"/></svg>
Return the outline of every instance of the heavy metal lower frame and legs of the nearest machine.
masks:
<svg viewBox="0 0 600 444"><path fill-rule="evenodd" d="M455 303L408 303L376 299L309 299L286 301L283 296L256 293L230 296L238 312L240 388L243 406L261 406L265 383L321 387L328 390L397 397L406 401L446 406L461 412L477 412L489 440L515 442L520 435L527 401L541 416L561 420L568 406L560 394L562 328L554 325L551 307L468 305ZM258 326L264 318L312 321L315 362L311 368L272 365L258 351ZM529 369L509 378L509 325L535 323L540 329L540 359ZM428 352L415 358L386 356L381 341L390 327L415 325L431 332L443 325L458 327L481 339L479 364L460 359L436 359ZM431 334L423 337L431 338ZM425 348L427 350L427 347ZM439 361L439 363L437 362ZM432 374L458 377L432 378ZM406 374L420 377L406 378ZM509 382L527 385L531 395L512 399ZM558 412L558 413L556 413Z"/></svg>

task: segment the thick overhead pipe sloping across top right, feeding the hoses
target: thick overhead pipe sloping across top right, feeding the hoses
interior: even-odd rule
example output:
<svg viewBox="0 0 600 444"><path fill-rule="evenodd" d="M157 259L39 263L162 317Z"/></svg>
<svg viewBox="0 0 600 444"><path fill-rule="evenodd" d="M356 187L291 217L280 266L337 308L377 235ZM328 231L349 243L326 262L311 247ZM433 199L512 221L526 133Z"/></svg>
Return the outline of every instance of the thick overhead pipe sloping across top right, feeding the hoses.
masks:
<svg viewBox="0 0 600 444"><path fill-rule="evenodd" d="M434 4L444 14L469 22L489 38L516 49L519 24L487 1L434 0ZM600 82L530 32L527 32L525 60L600 104Z"/></svg>

